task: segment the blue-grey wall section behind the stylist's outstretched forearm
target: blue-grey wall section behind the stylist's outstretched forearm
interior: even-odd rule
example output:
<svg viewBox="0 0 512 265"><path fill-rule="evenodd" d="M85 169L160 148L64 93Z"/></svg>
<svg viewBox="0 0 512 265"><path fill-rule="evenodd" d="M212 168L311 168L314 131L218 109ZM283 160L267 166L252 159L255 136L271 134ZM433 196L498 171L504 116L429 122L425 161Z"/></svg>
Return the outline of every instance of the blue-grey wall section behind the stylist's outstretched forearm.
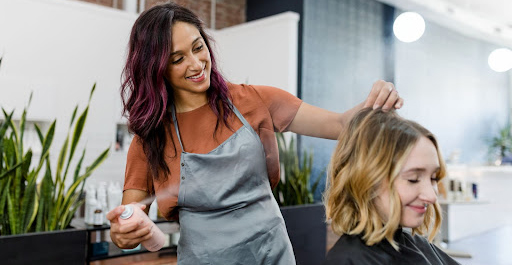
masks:
<svg viewBox="0 0 512 265"><path fill-rule="evenodd" d="M384 5L373 0L304 1L302 99L343 112L385 79ZM313 179L325 172L335 141L302 137L314 154ZM315 194L321 200L322 176Z"/></svg>

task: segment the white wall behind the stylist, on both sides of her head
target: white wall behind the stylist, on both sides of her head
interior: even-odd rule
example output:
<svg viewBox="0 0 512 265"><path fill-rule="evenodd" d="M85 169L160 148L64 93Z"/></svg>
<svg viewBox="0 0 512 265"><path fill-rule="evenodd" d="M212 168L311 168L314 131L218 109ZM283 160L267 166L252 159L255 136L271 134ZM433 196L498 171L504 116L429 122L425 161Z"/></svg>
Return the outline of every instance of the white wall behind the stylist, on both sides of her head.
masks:
<svg viewBox="0 0 512 265"><path fill-rule="evenodd" d="M121 119L121 71L137 15L59 0L0 0L0 106L18 110L34 92L28 118L57 119L52 160L65 138L74 106L87 103L97 82L82 146L88 165L114 146ZM235 83L273 85L296 94L297 14L283 14L215 32L219 64ZM37 142L37 138L32 140ZM82 147L79 146L79 150ZM76 154L79 156L79 154ZM125 152L111 155L89 183L123 182Z"/></svg>

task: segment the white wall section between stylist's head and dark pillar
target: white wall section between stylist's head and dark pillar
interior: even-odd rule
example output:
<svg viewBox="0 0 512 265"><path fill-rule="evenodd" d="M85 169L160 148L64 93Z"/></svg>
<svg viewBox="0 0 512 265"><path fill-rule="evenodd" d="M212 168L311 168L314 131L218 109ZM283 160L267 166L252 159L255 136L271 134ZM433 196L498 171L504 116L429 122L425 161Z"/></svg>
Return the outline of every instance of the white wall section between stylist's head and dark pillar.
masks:
<svg viewBox="0 0 512 265"><path fill-rule="evenodd" d="M215 31L221 71L233 83L269 85L297 95L299 15L285 12Z"/></svg>

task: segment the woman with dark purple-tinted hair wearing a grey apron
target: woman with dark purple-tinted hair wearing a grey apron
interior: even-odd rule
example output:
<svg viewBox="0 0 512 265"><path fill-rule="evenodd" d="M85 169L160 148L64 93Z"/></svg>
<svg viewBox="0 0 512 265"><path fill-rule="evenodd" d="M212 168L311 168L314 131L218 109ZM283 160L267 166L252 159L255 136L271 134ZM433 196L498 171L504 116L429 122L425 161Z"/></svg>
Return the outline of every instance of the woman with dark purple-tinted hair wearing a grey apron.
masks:
<svg viewBox="0 0 512 265"><path fill-rule="evenodd" d="M190 10L168 3L135 22L121 96L135 138L123 204L156 196L179 220L178 264L295 264L271 187L279 181L275 131L336 139L363 106L399 108L391 83L376 82L364 103L329 112L268 86L226 83L209 37ZM108 213L112 241L133 248L154 224L121 226Z"/></svg>

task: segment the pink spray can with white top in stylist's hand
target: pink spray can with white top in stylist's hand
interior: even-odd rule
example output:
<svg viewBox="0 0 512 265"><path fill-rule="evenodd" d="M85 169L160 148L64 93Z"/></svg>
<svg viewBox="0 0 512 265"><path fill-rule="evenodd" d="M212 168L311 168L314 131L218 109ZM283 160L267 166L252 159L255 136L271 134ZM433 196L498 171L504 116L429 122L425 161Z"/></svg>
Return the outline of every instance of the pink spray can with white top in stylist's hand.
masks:
<svg viewBox="0 0 512 265"><path fill-rule="evenodd" d="M143 220L143 223L146 225L147 223L151 224L151 231L153 232L153 236L142 242L142 245L149 251L155 252L160 250L165 244L165 235L155 225L153 221L149 219L145 212L143 212L139 207L133 206L131 204L124 206L124 212L119 216L119 224L128 224L133 222L139 222Z"/></svg>

